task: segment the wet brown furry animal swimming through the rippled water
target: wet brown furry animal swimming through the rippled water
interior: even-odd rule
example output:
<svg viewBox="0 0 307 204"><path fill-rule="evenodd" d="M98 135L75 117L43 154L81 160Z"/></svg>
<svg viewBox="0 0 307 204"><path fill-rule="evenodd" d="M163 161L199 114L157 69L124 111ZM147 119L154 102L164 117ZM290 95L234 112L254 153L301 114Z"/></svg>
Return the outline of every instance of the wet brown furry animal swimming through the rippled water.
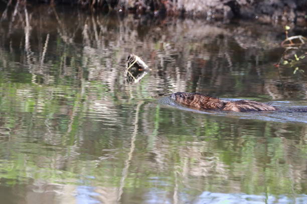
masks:
<svg viewBox="0 0 307 204"><path fill-rule="evenodd" d="M226 110L236 112L273 111L276 107L253 100L227 101L200 93L176 92L171 97L177 102L198 109Z"/></svg>

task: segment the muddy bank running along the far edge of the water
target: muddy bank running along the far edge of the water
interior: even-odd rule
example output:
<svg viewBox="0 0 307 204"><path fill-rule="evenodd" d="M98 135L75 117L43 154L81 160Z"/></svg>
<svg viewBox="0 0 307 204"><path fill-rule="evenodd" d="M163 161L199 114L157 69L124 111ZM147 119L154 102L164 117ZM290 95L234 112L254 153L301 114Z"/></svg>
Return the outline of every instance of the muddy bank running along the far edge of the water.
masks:
<svg viewBox="0 0 307 204"><path fill-rule="evenodd" d="M0 2L14 8L23 1ZM151 17L175 15L204 17L207 20L233 18L257 19L262 22L307 24L307 0L28 0L28 4L79 6L96 12L115 10L120 13L146 14Z"/></svg>

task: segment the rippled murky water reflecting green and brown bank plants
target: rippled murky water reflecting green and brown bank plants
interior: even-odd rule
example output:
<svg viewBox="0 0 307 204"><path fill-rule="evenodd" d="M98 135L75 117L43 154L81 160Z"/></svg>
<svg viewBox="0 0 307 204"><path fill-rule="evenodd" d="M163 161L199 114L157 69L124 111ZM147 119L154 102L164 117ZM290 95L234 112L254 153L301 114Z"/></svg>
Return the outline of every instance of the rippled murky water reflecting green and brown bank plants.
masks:
<svg viewBox="0 0 307 204"><path fill-rule="evenodd" d="M14 9L0 13L1 202L307 202L306 113L199 112L167 96L307 106L306 76L273 65L279 25ZM130 52L152 69L136 84Z"/></svg>

